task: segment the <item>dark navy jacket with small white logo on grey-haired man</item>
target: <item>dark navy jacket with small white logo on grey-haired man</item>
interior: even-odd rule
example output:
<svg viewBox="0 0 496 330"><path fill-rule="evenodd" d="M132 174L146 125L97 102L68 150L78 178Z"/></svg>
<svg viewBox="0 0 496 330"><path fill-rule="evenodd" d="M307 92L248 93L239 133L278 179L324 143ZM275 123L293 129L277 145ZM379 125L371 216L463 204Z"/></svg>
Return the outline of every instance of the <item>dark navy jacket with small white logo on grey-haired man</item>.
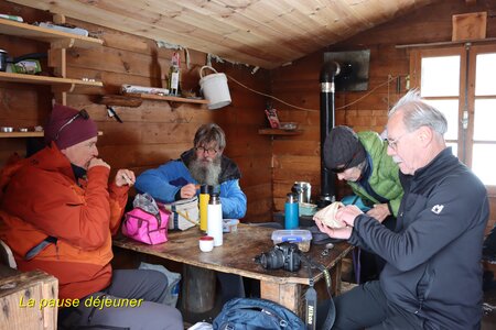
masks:
<svg viewBox="0 0 496 330"><path fill-rule="evenodd" d="M482 318L482 244L489 217L481 180L441 152L405 189L396 232L358 216L349 242L387 261L380 285L388 300L427 319L427 329L477 329Z"/></svg>

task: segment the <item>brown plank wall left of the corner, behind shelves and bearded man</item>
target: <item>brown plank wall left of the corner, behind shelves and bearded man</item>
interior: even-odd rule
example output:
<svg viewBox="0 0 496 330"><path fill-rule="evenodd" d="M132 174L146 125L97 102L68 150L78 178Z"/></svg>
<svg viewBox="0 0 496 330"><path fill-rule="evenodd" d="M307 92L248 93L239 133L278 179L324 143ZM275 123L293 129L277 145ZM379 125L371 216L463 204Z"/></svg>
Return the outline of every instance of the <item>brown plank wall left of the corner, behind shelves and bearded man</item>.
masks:
<svg viewBox="0 0 496 330"><path fill-rule="evenodd" d="M26 22L51 20L51 15L26 7L0 2L0 12L18 14ZM271 217L271 144L267 136L258 135L266 125L265 98L235 84L229 78L233 103L219 110L205 106L164 101L143 101L139 108L115 107L123 123L108 118L105 106L98 105L98 96L117 94L122 84L162 87L172 55L171 50L158 48L151 40L112 31L106 28L71 20L67 22L87 29L105 41L105 45L91 50L67 51L67 76L101 80L104 88L78 87L68 95L67 105L85 108L104 132L99 138L100 156L112 168L131 168L140 174L157 167L192 147L196 129L206 122L217 122L227 135L225 154L239 165L241 187L248 197L247 221L269 221ZM1 48L11 55L46 52L47 45L34 41L0 35ZM190 68L185 54L181 53L182 88L198 90L200 68L206 54L190 51ZM256 75L238 64L216 64L218 72L226 73L245 86L267 92L267 70ZM208 72L206 72L208 74ZM0 125L32 127L43 124L50 114L52 95L50 87L23 84L0 84ZM0 164L12 152L24 154L25 139L0 140Z"/></svg>

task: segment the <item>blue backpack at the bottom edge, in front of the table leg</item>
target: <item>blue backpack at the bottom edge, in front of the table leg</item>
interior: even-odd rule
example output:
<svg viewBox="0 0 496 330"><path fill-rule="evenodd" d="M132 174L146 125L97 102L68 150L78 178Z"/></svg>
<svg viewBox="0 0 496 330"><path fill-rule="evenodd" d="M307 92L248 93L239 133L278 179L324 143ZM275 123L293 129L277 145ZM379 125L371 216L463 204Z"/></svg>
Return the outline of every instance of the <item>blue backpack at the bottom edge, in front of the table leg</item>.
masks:
<svg viewBox="0 0 496 330"><path fill-rule="evenodd" d="M234 298L214 320L214 330L305 330L288 308L266 299Z"/></svg>

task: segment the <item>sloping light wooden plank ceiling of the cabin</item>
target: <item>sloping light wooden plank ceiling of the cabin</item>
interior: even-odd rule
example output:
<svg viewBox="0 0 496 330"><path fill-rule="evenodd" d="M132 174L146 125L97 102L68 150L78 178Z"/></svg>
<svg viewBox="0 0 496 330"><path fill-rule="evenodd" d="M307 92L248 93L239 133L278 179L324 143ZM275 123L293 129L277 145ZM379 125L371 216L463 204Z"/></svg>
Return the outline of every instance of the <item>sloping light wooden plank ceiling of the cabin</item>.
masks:
<svg viewBox="0 0 496 330"><path fill-rule="evenodd" d="M422 6L436 2L436 0L9 1L268 69L328 47ZM476 0L465 1L467 6L476 3Z"/></svg>

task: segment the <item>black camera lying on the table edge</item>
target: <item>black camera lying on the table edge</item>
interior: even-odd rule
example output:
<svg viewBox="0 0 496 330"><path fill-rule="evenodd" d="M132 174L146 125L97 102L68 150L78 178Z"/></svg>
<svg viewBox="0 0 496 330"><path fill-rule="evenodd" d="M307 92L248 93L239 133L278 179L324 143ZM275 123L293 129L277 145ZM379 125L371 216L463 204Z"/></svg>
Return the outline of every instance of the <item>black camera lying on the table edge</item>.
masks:
<svg viewBox="0 0 496 330"><path fill-rule="evenodd" d="M294 243L282 242L269 252L257 255L255 262L266 270L284 268L284 271L298 272L301 267L301 251Z"/></svg>

